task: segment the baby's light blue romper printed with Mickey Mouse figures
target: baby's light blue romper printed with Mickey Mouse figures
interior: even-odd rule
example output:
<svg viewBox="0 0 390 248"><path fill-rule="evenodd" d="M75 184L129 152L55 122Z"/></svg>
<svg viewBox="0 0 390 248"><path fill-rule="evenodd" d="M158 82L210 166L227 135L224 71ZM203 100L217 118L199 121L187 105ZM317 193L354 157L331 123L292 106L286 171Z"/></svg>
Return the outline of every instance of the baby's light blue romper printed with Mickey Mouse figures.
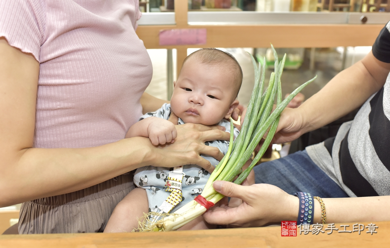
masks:
<svg viewBox="0 0 390 248"><path fill-rule="evenodd" d="M170 116L170 104L163 104L161 109L158 109L155 112L150 112L141 116L140 119L144 119L150 116L155 116L158 118L163 118L168 120ZM179 125L184 124L183 120L179 118ZM227 120L222 120L218 125L225 127L226 132L230 132L230 122ZM237 128L234 128L234 137L237 137L239 131ZM225 154L229 147L229 141L207 141L205 142L208 146L217 147L223 154ZM211 156L207 156L201 154L203 158L209 160L210 163L214 166L218 165L219 161ZM165 181L167 181L169 172L172 171L173 168L166 167L154 167L154 166L146 166L138 168L134 174L134 182L135 184L146 190L149 208L151 211L157 211L158 206L167 199L170 195L170 192L165 191ZM182 201L170 211L170 213L174 213L176 208L180 208L184 204L188 203L196 195L200 195L203 191L204 186L207 183L207 180L210 177L210 173L205 169L201 168L198 165L183 165L183 180L182 180ZM143 178L144 180L141 180ZM145 181L146 179L146 181ZM142 183L140 183L142 182ZM157 208L157 209L156 209Z"/></svg>

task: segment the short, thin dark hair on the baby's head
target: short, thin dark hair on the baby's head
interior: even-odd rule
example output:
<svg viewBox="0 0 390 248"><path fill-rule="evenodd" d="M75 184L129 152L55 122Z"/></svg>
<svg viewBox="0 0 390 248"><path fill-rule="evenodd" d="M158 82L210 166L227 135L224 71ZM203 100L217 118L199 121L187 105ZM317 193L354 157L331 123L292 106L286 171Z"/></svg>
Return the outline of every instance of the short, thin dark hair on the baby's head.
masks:
<svg viewBox="0 0 390 248"><path fill-rule="evenodd" d="M237 97L243 81L243 71L233 55L216 48L201 48L188 55L183 62L183 66L190 57L198 59L200 63L226 67L227 69L232 70L234 72L234 85L236 86L234 89L234 96L235 98Z"/></svg>

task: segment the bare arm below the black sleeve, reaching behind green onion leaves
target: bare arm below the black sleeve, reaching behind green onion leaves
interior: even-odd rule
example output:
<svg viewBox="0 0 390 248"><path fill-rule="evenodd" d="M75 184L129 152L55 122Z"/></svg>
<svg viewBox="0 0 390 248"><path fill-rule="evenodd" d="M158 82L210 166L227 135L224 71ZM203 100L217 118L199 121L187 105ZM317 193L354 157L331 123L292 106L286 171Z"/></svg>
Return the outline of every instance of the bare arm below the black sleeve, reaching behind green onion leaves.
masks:
<svg viewBox="0 0 390 248"><path fill-rule="evenodd" d="M293 141L300 135L350 113L383 87L390 63L374 57L372 52L343 70L324 88L296 109L286 108L280 116L274 142Z"/></svg>

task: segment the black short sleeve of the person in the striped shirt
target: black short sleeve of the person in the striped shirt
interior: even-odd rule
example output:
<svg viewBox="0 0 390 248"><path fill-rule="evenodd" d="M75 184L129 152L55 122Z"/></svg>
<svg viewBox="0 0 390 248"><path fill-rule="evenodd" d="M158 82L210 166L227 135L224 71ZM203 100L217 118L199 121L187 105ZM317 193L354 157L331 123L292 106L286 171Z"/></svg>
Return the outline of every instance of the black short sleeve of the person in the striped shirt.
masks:
<svg viewBox="0 0 390 248"><path fill-rule="evenodd" d="M389 26L389 27L387 27ZM372 46L372 54L381 62L390 63L390 23L382 28Z"/></svg>

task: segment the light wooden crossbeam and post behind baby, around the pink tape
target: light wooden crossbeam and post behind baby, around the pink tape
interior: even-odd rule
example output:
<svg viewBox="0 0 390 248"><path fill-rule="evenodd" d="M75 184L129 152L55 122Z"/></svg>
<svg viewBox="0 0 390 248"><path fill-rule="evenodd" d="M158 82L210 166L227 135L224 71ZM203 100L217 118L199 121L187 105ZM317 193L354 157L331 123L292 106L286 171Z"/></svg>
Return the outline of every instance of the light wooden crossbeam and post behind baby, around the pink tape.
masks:
<svg viewBox="0 0 390 248"><path fill-rule="evenodd" d="M148 49L177 49L177 73L190 47L337 47L372 46L384 25L188 25L186 0L175 0L176 25L138 26L137 35ZM160 46L160 30L206 28L207 43L198 46Z"/></svg>

